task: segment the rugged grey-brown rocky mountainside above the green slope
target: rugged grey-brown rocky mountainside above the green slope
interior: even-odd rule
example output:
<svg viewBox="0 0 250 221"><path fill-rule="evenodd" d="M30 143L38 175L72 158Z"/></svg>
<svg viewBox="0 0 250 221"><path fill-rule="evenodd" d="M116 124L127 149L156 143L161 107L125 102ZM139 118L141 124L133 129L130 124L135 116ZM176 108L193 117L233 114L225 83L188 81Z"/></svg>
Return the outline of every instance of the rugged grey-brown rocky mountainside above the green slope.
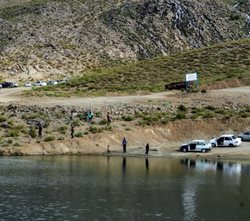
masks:
<svg viewBox="0 0 250 221"><path fill-rule="evenodd" d="M69 76L247 37L245 7L230 3L0 0L0 74L19 80Z"/></svg>

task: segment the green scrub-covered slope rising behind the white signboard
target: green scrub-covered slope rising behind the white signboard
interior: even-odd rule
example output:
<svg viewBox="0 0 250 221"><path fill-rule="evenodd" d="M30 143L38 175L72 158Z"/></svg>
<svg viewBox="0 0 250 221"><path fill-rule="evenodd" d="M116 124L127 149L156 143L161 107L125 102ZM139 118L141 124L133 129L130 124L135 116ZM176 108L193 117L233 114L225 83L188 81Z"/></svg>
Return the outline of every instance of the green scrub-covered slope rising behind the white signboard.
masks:
<svg viewBox="0 0 250 221"><path fill-rule="evenodd" d="M205 92L204 86L221 80L249 79L249 51L250 39L242 39L153 60L95 69L72 78L66 84L50 87L49 93L55 96L60 93L62 96L100 96L135 91L159 92L165 90L166 83L181 81L192 70L199 73ZM43 87L28 94L47 95L47 92L48 88Z"/></svg>

